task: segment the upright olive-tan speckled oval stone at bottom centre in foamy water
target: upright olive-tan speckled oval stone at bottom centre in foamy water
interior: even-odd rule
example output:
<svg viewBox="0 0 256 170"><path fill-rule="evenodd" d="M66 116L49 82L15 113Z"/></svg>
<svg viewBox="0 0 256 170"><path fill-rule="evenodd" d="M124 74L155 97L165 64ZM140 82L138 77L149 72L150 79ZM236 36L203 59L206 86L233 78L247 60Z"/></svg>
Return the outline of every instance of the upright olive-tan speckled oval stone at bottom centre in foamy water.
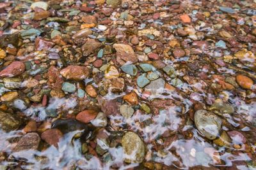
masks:
<svg viewBox="0 0 256 170"><path fill-rule="evenodd" d="M124 162L140 164L145 158L145 146L138 134L126 132L122 138L122 147L125 153Z"/></svg>

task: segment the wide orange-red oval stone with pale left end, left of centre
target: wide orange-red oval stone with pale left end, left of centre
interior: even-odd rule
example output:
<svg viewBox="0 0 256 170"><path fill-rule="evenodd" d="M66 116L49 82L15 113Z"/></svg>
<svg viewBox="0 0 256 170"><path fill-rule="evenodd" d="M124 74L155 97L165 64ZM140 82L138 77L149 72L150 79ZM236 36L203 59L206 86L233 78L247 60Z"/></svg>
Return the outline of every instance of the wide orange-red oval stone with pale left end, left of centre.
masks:
<svg viewBox="0 0 256 170"><path fill-rule="evenodd" d="M60 74L70 80L84 80L90 71L88 67L84 66L68 66L65 69L61 69Z"/></svg>

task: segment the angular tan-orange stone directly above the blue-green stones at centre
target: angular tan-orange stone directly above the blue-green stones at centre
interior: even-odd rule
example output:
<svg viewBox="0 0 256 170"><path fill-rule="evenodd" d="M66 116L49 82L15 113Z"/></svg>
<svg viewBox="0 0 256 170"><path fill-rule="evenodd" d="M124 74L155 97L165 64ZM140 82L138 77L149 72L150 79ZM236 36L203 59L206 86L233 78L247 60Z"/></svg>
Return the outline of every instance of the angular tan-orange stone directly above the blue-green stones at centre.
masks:
<svg viewBox="0 0 256 170"><path fill-rule="evenodd" d="M116 50L116 61L120 65L124 65L126 62L130 62L130 64L138 62L137 55L131 46L124 44L114 44L113 47Z"/></svg>

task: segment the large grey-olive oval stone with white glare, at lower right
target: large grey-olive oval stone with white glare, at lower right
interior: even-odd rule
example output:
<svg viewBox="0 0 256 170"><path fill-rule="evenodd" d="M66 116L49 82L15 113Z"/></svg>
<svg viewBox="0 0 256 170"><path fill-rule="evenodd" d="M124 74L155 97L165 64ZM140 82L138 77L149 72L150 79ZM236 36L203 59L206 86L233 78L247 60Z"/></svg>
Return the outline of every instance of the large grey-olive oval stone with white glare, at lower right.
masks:
<svg viewBox="0 0 256 170"><path fill-rule="evenodd" d="M198 110L194 116L196 129L207 139L216 139L220 134L222 121L217 115L206 110Z"/></svg>

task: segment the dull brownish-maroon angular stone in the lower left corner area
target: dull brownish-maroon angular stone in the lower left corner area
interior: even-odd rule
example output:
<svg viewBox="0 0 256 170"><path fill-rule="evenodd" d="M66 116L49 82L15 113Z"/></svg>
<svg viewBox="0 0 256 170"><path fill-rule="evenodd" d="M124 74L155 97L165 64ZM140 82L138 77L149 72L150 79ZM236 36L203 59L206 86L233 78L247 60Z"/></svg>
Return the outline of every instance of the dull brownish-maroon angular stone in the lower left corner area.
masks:
<svg viewBox="0 0 256 170"><path fill-rule="evenodd" d="M25 134L19 139L14 148L14 152L19 152L21 150L36 150L40 141L40 136L35 132Z"/></svg>

